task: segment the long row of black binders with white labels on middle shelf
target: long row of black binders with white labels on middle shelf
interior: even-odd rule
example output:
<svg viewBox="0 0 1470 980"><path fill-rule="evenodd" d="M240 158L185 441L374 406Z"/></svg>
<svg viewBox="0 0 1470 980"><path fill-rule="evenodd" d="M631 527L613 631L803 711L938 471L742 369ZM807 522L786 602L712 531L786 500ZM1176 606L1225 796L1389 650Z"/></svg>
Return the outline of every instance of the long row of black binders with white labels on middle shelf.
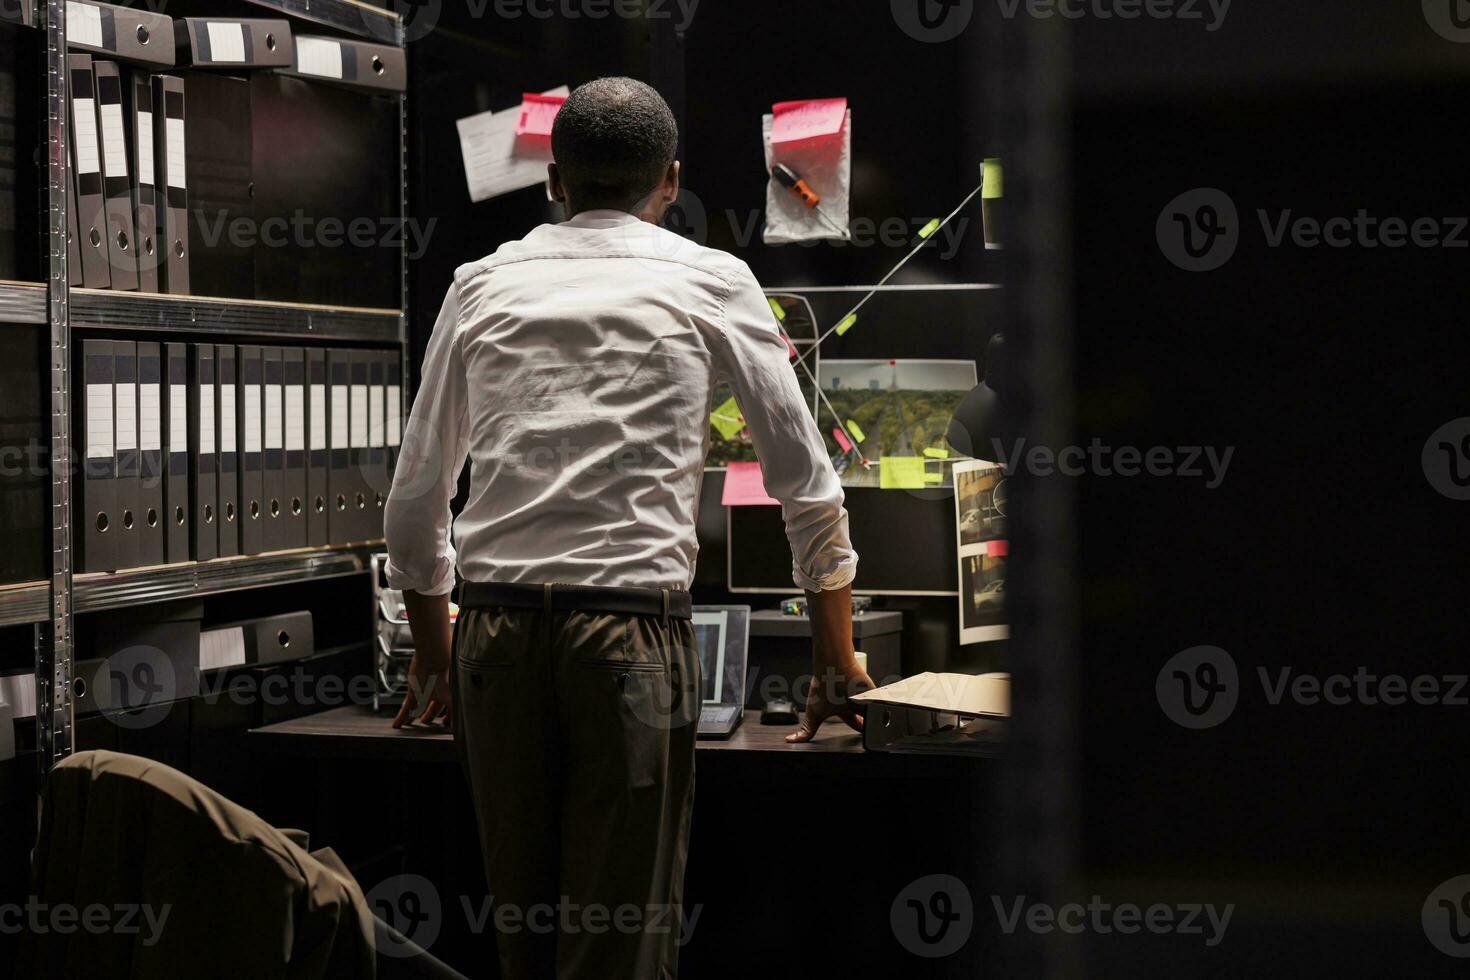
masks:
<svg viewBox="0 0 1470 980"><path fill-rule="evenodd" d="M84 339L78 572L382 538L398 351Z"/></svg>

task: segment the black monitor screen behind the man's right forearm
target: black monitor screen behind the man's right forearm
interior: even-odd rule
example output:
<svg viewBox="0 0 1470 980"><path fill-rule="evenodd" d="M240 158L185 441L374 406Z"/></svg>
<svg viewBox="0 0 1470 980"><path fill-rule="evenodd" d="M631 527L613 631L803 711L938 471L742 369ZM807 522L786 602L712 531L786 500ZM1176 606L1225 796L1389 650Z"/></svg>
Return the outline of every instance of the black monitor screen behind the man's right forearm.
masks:
<svg viewBox="0 0 1470 980"><path fill-rule="evenodd" d="M844 494L848 532L858 557L854 592L958 595L953 491L848 486ZM729 591L794 595L791 545L781 508L725 510Z"/></svg>

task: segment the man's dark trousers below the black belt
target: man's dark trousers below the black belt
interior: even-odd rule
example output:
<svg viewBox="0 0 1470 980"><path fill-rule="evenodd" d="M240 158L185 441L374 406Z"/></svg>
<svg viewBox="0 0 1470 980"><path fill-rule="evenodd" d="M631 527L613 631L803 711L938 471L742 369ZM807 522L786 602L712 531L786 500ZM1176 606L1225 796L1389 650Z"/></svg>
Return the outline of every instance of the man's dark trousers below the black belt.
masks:
<svg viewBox="0 0 1470 980"><path fill-rule="evenodd" d="M689 620L466 608L454 739L506 980L672 980L694 807Z"/></svg>

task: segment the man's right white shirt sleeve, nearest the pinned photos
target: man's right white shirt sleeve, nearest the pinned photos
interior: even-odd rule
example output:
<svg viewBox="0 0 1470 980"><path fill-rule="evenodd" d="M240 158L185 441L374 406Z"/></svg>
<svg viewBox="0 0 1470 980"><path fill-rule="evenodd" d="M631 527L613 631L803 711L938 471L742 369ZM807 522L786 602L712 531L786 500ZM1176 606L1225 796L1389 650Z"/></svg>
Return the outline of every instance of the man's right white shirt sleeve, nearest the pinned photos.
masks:
<svg viewBox="0 0 1470 980"><path fill-rule="evenodd" d="M722 332L720 375L750 428L766 492L781 502L792 577L807 592L841 589L857 574L842 485L801 397L770 304L744 263L731 282Z"/></svg>

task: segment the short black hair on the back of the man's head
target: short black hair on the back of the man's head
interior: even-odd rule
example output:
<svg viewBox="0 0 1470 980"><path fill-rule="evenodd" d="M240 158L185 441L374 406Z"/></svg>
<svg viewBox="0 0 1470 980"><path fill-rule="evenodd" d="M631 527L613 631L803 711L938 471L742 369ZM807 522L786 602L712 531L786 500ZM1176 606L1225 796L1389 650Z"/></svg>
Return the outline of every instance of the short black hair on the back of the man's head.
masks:
<svg viewBox="0 0 1470 980"><path fill-rule="evenodd" d="M669 103L634 78L598 78L567 96L551 126L551 156L578 206L632 209L669 170L679 126Z"/></svg>

